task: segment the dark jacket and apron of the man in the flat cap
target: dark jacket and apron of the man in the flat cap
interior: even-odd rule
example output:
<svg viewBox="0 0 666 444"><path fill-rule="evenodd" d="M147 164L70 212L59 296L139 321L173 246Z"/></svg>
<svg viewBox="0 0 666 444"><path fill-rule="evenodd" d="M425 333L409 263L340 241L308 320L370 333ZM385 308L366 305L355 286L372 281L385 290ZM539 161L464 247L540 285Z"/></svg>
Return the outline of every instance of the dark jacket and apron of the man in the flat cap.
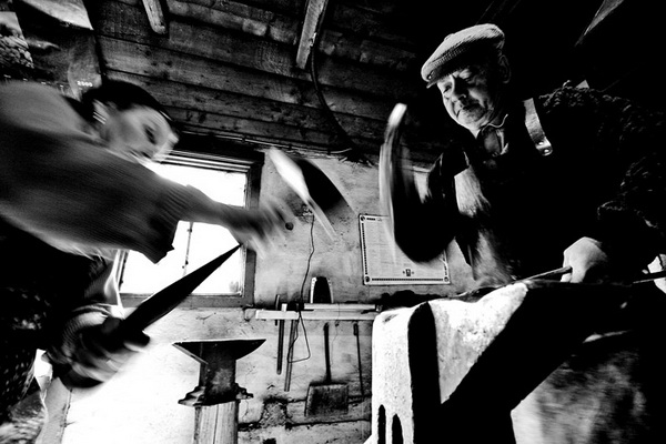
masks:
<svg viewBox="0 0 666 444"><path fill-rule="evenodd" d="M663 114L598 91L562 88L535 98L553 151L539 152L516 103L507 152L470 143L450 149L428 175L423 218L428 244L455 239L476 278L505 283L562 265L582 236L626 264L645 268L665 251L666 150Z"/></svg>

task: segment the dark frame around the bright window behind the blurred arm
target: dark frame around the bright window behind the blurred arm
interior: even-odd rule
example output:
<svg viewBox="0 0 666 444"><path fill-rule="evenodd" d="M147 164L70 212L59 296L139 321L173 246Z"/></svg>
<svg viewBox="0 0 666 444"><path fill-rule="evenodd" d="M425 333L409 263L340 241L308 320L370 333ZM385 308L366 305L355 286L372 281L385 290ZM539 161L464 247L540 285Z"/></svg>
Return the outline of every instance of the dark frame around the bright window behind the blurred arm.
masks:
<svg viewBox="0 0 666 444"><path fill-rule="evenodd" d="M261 171L264 164L264 154L253 149L234 148L233 145L220 147L219 141L211 138L182 134L176 147L161 163L184 167L204 167L240 172L246 175L245 208L259 208L261 189ZM188 147L196 147L195 150ZM222 252L221 252L222 253ZM254 304L254 279L256 272L256 253L244 245L240 249L243 255L243 289L240 295L228 294L191 294L179 305L184 309L199 307L241 307ZM122 254L119 262L124 261L127 253ZM119 268L119 272L120 272ZM119 292L120 293L120 292ZM120 293L123 306L133 307L150 297L143 293Z"/></svg>

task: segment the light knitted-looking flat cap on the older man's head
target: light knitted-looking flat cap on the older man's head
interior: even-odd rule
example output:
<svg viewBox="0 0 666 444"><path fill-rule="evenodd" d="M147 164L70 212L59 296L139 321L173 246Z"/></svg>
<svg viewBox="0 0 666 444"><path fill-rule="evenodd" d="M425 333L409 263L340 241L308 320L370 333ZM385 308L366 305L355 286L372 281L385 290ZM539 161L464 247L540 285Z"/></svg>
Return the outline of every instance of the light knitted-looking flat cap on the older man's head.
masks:
<svg viewBox="0 0 666 444"><path fill-rule="evenodd" d="M484 51L501 51L504 32L495 24L475 24L451 33L423 63L421 77L432 87L442 77L458 68L471 54Z"/></svg>

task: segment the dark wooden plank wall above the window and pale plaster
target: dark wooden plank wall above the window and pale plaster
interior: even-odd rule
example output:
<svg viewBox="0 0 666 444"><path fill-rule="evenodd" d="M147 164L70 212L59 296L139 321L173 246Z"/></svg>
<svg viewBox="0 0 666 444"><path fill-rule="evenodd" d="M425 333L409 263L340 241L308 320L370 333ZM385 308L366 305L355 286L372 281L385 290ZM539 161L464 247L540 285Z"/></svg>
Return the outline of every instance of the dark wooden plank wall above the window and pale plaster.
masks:
<svg viewBox="0 0 666 444"><path fill-rule="evenodd" d="M302 12L289 8L296 0L278 7L263 0L169 0L167 36L151 31L142 0L92 3L105 74L144 85L184 131L326 153L342 147L340 124L365 153L379 154L395 103L417 100L424 91L410 50L364 31L326 30L315 61L333 122L309 70L294 64L289 32L297 29ZM282 32L282 41L271 32ZM373 65L377 61L383 65ZM405 143L415 161L430 160L438 142L418 132L418 121L406 124Z"/></svg>

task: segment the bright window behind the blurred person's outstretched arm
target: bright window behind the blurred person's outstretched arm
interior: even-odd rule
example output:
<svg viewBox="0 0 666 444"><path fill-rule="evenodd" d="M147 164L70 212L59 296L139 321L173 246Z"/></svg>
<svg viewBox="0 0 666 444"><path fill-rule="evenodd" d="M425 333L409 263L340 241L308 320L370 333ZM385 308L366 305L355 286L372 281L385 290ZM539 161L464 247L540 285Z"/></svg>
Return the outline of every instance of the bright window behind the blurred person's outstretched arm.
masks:
<svg viewBox="0 0 666 444"><path fill-rule="evenodd" d="M209 154L175 152L151 167L159 174L196 186L211 199L239 206L258 201L255 180L261 164ZM205 223L180 222L173 250L153 264L140 253L124 252L119 261L119 286L132 306L235 246L229 230ZM254 253L239 250L192 292L189 306L240 306L252 303Z"/></svg>

